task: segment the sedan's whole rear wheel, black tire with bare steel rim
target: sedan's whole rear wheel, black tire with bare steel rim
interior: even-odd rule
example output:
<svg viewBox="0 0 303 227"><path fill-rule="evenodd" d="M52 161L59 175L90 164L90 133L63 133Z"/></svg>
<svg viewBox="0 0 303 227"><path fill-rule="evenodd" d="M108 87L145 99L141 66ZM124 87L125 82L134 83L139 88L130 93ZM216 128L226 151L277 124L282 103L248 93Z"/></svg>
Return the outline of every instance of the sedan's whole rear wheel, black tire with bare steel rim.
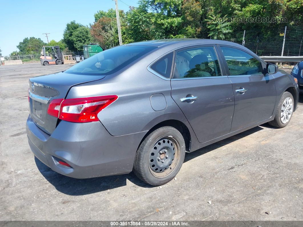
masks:
<svg viewBox="0 0 303 227"><path fill-rule="evenodd" d="M140 144L133 171L147 184L158 186L175 178L185 157L185 142L181 133L164 126L151 132Z"/></svg>

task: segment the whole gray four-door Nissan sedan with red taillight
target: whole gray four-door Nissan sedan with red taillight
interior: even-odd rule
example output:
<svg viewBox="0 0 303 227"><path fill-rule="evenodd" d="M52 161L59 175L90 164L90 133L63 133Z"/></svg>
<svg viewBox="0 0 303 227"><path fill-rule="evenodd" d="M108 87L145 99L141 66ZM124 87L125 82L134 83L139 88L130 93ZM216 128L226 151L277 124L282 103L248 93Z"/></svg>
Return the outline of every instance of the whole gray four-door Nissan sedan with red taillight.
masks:
<svg viewBox="0 0 303 227"><path fill-rule="evenodd" d="M26 132L34 155L60 174L133 170L162 185L177 175L185 152L266 122L285 127L298 96L293 76L241 45L137 42L31 78Z"/></svg>

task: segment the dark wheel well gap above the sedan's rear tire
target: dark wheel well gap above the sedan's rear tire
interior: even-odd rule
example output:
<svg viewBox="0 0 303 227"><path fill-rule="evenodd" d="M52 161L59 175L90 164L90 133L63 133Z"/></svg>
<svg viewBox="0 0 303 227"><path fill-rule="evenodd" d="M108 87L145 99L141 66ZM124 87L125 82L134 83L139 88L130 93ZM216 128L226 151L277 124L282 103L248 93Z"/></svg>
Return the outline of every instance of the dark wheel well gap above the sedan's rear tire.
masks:
<svg viewBox="0 0 303 227"><path fill-rule="evenodd" d="M154 130L156 130L160 127L163 127L163 126L171 126L171 127L174 127L175 129L177 129L182 134L182 136L184 138L186 152L190 152L190 150L191 150L191 134L190 134L190 131L189 131L188 127L183 122L181 122L179 120L175 120L175 119L165 120L165 121L162 121L162 122L156 124L155 126L153 126L150 130L148 130L148 132L146 132L146 134L142 138L140 144L151 132L153 132ZM140 144L138 145L138 147L140 146Z"/></svg>

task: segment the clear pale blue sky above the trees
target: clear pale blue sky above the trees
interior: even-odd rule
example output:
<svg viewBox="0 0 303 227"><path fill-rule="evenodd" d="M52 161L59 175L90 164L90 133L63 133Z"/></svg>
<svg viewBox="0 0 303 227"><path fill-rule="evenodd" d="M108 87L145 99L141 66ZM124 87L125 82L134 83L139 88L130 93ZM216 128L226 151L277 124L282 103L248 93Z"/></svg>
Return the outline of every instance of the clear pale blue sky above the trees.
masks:
<svg viewBox="0 0 303 227"><path fill-rule="evenodd" d="M138 6L137 0L119 0L119 9L128 11L128 5ZM0 49L9 55L25 37L41 38L50 33L48 40L62 39L65 25L72 20L83 25L94 22L98 10L115 8L112 0L7 0L0 2Z"/></svg>

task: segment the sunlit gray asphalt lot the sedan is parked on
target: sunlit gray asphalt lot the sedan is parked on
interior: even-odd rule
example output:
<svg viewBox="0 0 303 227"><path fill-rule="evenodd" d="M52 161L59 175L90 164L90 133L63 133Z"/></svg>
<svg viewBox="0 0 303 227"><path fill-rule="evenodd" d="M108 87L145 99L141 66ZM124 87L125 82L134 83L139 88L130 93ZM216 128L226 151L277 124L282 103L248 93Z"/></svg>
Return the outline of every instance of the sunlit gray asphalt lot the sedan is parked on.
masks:
<svg viewBox="0 0 303 227"><path fill-rule="evenodd" d="M28 78L70 66L0 66L0 220L303 220L302 95L287 127L186 154L161 187L132 173L79 180L35 159L25 133Z"/></svg>

